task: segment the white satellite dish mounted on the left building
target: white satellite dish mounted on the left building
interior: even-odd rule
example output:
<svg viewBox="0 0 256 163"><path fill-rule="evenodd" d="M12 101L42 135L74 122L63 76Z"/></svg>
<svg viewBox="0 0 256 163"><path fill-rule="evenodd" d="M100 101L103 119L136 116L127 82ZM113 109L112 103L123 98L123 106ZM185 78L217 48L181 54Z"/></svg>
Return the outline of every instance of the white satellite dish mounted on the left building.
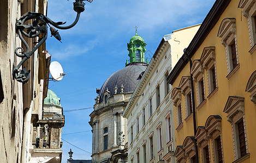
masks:
<svg viewBox="0 0 256 163"><path fill-rule="evenodd" d="M66 73L63 73L61 64L59 64L59 62L57 61L51 62L49 69L50 69L52 78L55 79L56 81L61 81L63 76L66 75Z"/></svg>

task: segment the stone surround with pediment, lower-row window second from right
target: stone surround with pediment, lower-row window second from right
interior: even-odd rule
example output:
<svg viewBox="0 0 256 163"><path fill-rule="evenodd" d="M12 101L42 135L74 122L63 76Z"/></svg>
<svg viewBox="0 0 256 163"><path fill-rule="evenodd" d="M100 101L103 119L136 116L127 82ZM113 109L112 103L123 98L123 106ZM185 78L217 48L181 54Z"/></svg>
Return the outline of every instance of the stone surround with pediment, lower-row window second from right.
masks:
<svg viewBox="0 0 256 163"><path fill-rule="evenodd" d="M232 128L232 136L233 136L233 146L234 146L234 155L235 160L240 160L240 150L239 150L239 138L238 138L238 129L236 127L236 123L243 121L243 127L245 130L245 137L247 137L246 130L246 121L245 121L245 106L244 106L244 97L239 96L229 96L228 101L225 105L223 112L227 113L228 121L231 123ZM246 155L242 158L249 158L249 149L248 149L248 141L246 141ZM243 161L243 160L242 160ZM237 161L235 161L237 162ZM238 161L241 162L241 161Z"/></svg>

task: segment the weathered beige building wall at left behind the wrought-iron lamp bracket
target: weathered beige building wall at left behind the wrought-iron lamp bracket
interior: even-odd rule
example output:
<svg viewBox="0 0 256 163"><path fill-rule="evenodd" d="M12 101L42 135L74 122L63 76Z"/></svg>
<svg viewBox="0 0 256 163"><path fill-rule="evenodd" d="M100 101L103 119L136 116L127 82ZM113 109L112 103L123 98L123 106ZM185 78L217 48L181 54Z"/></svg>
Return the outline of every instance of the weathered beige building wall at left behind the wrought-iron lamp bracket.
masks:
<svg viewBox="0 0 256 163"><path fill-rule="evenodd" d="M39 68L40 64L46 65L46 55L43 53L45 47L42 45L22 65L27 70L31 70L28 83L22 84L13 78L13 63L17 64L21 61L14 51L17 47L23 47L16 34L16 21L28 11L43 13L46 11L46 4L47 1L43 0L0 2L1 162L28 162L31 155L29 150L32 147L31 127L41 118L40 104L46 95L42 89L47 86L47 82L44 81L45 68ZM32 49L31 39L26 38L26 41ZM44 61L39 61L39 56L44 57Z"/></svg>

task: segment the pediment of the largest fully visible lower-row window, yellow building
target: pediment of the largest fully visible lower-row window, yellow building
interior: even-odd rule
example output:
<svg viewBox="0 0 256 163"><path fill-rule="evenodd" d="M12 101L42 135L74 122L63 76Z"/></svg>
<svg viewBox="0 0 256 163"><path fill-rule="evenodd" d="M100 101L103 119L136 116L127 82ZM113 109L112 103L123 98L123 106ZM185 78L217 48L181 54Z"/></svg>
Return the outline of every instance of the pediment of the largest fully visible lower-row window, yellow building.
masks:
<svg viewBox="0 0 256 163"><path fill-rule="evenodd" d="M244 106L244 97L239 96L229 96L228 101L225 105L223 112L228 114L228 121L230 123L233 122L233 117L238 113L241 112L242 114L245 113L245 106Z"/></svg>

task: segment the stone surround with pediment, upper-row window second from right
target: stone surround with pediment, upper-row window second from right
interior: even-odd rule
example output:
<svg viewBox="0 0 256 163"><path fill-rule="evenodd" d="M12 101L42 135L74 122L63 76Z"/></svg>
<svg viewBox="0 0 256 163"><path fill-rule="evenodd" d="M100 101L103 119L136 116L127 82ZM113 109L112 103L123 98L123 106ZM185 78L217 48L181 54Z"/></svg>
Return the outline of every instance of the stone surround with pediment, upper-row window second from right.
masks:
<svg viewBox="0 0 256 163"><path fill-rule="evenodd" d="M218 37L221 37L222 44L225 46L228 76L231 76L239 69L239 58L237 54L237 41L236 41L236 19L235 18L224 18L219 26ZM230 45L235 41L236 47L236 67L233 67Z"/></svg>

